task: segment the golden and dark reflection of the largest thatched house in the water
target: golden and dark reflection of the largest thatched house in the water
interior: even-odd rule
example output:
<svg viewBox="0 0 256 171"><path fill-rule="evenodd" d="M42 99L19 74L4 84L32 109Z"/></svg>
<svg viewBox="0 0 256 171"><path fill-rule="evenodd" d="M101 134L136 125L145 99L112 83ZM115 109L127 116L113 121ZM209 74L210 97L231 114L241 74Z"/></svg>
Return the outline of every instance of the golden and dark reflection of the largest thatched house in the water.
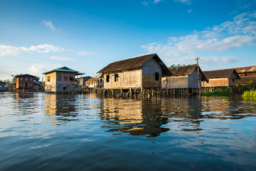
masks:
<svg viewBox="0 0 256 171"><path fill-rule="evenodd" d="M107 120L103 127L111 128L108 129L109 132L156 137L169 131L168 128L161 127L167 121L162 116L161 106L150 107L147 103L134 99L104 99L102 105L101 119Z"/></svg>

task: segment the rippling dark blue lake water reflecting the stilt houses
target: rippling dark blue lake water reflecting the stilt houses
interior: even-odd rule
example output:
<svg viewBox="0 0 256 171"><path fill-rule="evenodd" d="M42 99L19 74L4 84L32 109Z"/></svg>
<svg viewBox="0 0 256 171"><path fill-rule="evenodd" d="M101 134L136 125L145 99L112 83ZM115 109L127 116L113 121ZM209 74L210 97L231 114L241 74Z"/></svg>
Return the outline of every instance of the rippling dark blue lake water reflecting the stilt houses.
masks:
<svg viewBox="0 0 256 171"><path fill-rule="evenodd" d="M0 93L0 170L255 170L256 100Z"/></svg>

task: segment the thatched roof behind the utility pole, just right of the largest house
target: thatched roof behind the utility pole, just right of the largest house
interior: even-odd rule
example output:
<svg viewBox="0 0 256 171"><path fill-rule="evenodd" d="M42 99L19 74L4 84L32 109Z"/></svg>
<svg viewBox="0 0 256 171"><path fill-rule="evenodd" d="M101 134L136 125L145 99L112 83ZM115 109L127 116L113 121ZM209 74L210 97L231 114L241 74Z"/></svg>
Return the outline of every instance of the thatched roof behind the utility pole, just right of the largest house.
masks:
<svg viewBox="0 0 256 171"><path fill-rule="evenodd" d="M202 72L199 67L199 73L202 75L202 80L206 80L206 76L204 72ZM172 72L173 76L185 76L191 75L194 70L197 70L197 64L189 65L189 66L181 66L181 67L169 67L170 72Z"/></svg>

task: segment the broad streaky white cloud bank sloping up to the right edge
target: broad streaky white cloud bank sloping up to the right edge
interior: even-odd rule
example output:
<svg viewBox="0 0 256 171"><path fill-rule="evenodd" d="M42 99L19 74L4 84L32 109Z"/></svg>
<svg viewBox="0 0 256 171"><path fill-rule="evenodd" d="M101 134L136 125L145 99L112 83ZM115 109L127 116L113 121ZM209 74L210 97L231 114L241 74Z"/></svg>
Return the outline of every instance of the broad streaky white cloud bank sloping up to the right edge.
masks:
<svg viewBox="0 0 256 171"><path fill-rule="evenodd" d="M141 46L146 54L156 53L164 58L183 58L200 52L229 51L256 43L256 11L234 17L219 26L207 27L204 31L194 31L191 35L170 37L168 43L149 43Z"/></svg>

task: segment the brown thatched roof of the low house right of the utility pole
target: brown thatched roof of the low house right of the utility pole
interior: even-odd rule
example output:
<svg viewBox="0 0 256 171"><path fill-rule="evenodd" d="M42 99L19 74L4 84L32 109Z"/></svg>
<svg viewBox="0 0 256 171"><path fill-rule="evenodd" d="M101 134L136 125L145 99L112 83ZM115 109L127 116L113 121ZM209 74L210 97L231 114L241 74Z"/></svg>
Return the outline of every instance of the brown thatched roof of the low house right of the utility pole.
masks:
<svg viewBox="0 0 256 171"><path fill-rule="evenodd" d="M230 78L231 74L234 72L234 74L237 76L237 79L241 79L239 74L234 68L231 69L225 69L225 70L213 70L213 71L203 71L206 78L212 79L212 78Z"/></svg>

